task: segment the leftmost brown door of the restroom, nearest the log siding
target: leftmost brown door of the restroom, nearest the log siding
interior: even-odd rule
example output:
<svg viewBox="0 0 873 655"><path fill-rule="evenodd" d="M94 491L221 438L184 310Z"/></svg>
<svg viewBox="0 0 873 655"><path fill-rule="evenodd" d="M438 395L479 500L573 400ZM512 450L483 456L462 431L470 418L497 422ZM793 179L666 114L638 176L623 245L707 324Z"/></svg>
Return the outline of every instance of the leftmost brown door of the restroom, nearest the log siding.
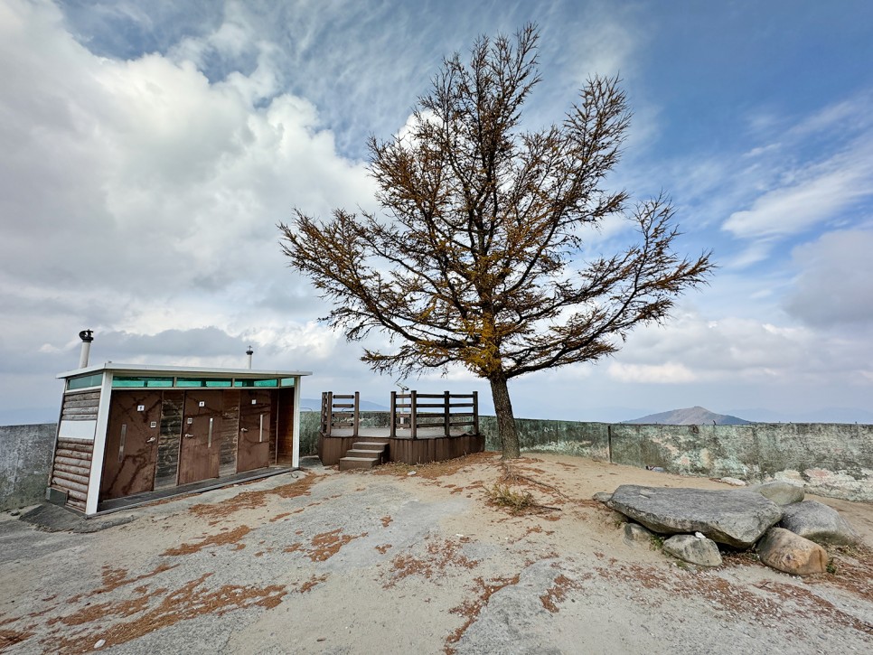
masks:
<svg viewBox="0 0 873 655"><path fill-rule="evenodd" d="M160 391L112 393L100 481L101 501L152 491L160 426Z"/></svg>

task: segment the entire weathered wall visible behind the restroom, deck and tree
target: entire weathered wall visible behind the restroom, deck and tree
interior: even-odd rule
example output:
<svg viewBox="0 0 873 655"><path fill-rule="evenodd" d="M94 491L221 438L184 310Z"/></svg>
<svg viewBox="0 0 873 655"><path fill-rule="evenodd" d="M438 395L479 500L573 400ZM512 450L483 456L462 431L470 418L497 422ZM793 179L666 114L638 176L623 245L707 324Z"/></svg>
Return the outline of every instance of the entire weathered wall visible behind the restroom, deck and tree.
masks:
<svg viewBox="0 0 873 655"><path fill-rule="evenodd" d="M319 413L302 412L300 418L300 454L314 455ZM365 426L388 426L388 418L387 412L361 412ZM873 426L636 426L529 418L516 423L521 448L528 453L571 454L746 482L791 480L822 496L873 502ZM480 416L479 425L485 447L499 450L496 419ZM42 501L54 435L54 424L0 427L0 510Z"/></svg>

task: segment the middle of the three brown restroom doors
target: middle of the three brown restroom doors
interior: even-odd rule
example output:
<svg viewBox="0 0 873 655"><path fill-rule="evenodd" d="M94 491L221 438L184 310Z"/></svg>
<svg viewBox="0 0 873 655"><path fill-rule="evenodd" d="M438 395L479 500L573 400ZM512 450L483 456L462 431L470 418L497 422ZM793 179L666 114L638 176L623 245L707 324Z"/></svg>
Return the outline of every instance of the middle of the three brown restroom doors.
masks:
<svg viewBox="0 0 873 655"><path fill-rule="evenodd" d="M179 484L217 478L221 454L221 391L186 391Z"/></svg>

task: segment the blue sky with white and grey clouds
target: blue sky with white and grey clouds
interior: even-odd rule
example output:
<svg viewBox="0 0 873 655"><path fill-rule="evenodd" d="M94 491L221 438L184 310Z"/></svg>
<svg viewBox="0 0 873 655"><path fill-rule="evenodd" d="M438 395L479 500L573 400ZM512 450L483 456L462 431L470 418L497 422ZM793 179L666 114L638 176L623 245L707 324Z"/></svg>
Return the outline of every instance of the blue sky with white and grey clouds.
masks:
<svg viewBox="0 0 873 655"><path fill-rule="evenodd" d="M256 369L313 371L305 398L387 405L398 380L319 322L277 223L378 210L368 136L407 124L444 57L529 22L525 125L620 76L608 182L668 194L677 248L718 270L614 357L512 380L516 416L873 423L866 0L0 0L0 424L57 420L85 328L91 363L243 368L250 344ZM465 370L399 383L489 409Z"/></svg>

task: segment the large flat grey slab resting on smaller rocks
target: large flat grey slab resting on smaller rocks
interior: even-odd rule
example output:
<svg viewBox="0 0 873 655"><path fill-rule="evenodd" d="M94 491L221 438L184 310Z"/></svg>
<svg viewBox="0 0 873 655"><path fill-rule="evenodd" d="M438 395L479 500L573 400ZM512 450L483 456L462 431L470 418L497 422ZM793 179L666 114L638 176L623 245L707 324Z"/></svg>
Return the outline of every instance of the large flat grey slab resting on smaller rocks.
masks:
<svg viewBox="0 0 873 655"><path fill-rule="evenodd" d="M665 535L701 532L728 546L752 546L782 518L782 510L746 490L663 489L623 484L606 503L613 510Z"/></svg>

